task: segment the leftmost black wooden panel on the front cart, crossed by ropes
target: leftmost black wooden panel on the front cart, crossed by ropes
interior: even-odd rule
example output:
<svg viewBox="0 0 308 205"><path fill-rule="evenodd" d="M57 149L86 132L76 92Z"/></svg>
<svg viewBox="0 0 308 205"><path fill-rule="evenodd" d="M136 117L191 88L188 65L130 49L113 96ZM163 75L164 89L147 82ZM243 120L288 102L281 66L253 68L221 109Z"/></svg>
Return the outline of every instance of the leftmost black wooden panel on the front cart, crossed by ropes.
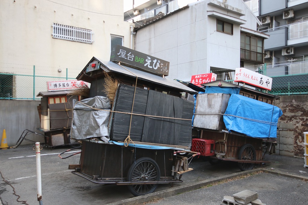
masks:
<svg viewBox="0 0 308 205"><path fill-rule="evenodd" d="M132 102L135 87L121 84L117 90L115 111L132 111ZM133 113L145 114L148 99L148 90L136 88ZM124 141L129 133L131 115L114 113L110 139ZM133 115L130 137L133 141L140 142L144 125L144 116Z"/></svg>

